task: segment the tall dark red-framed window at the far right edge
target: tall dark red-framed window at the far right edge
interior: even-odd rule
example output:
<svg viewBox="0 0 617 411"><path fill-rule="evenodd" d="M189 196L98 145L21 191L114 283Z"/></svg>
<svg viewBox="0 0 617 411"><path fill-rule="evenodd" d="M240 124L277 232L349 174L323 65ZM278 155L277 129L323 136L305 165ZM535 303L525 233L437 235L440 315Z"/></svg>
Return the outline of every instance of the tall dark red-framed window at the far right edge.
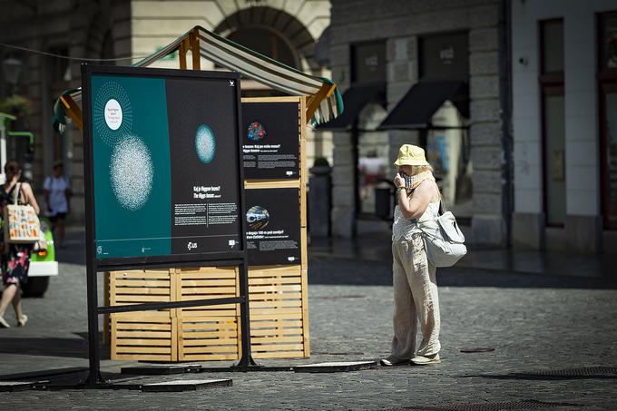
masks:
<svg viewBox="0 0 617 411"><path fill-rule="evenodd" d="M599 15L598 28L602 220L617 230L617 12Z"/></svg>

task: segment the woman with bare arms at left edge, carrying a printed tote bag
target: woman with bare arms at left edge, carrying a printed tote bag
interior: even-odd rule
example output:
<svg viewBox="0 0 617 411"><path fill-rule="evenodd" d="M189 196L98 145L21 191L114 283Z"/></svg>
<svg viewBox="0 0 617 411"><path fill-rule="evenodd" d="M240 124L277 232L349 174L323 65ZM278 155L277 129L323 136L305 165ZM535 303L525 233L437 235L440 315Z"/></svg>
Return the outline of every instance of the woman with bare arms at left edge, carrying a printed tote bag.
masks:
<svg viewBox="0 0 617 411"><path fill-rule="evenodd" d="M7 161L5 165L6 182L0 192L0 215L4 215L4 207L12 204L17 195L19 204L29 204L34 208L36 214L40 209L34 198L32 187L27 182L20 182L22 168L17 161ZM3 230L4 233L4 230ZM5 290L0 300L0 328L10 328L5 320L5 312L8 305L13 303L17 325L24 327L28 320L22 310L21 286L28 279L28 269L30 267L30 255L33 245L31 244L10 244L5 242L4 235L0 240L0 251L2 252L2 279L5 283Z"/></svg>

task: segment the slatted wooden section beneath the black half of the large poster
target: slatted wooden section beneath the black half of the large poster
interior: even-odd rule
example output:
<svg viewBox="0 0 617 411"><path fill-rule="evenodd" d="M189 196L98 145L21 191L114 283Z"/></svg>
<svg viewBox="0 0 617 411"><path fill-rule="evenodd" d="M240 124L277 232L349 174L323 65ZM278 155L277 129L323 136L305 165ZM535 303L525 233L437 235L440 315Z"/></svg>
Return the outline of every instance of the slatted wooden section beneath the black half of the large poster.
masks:
<svg viewBox="0 0 617 411"><path fill-rule="evenodd" d="M240 296L239 269L236 267L176 269L175 278L178 281L178 300ZM177 317L179 360L234 360L240 357L240 305L178 308Z"/></svg>

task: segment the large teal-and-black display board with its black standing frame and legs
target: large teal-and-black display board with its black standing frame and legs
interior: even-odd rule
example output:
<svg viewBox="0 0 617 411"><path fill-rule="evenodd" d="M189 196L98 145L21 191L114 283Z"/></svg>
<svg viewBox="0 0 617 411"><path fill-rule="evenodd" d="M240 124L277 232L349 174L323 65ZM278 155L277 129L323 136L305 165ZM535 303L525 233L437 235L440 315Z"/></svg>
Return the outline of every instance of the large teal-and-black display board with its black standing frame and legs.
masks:
<svg viewBox="0 0 617 411"><path fill-rule="evenodd" d="M142 320L164 311L233 306L242 351L239 367L248 367L239 74L83 64L82 82L88 383L103 381L98 316L104 314L112 314L114 324L120 317ZM187 266L233 270L237 292L177 298L173 275ZM97 273L111 269L140 276L124 281L128 297L115 294L113 305L99 307ZM141 296L143 289L153 294ZM175 334L172 320L160 327ZM146 332L133 330L126 332ZM132 349L164 350L139 346Z"/></svg>

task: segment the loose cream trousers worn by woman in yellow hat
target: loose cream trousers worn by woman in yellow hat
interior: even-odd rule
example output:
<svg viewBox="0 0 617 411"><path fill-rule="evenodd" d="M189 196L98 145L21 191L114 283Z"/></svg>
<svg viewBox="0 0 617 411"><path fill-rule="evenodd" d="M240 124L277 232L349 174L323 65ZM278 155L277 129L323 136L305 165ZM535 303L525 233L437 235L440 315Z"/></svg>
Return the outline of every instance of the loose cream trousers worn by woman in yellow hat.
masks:
<svg viewBox="0 0 617 411"><path fill-rule="evenodd" d="M435 279L436 268L428 263L421 233L411 240L392 242L392 275L394 285L394 338L392 355L395 360L416 357L416 328L420 322L422 342L418 356L439 352L439 298Z"/></svg>

